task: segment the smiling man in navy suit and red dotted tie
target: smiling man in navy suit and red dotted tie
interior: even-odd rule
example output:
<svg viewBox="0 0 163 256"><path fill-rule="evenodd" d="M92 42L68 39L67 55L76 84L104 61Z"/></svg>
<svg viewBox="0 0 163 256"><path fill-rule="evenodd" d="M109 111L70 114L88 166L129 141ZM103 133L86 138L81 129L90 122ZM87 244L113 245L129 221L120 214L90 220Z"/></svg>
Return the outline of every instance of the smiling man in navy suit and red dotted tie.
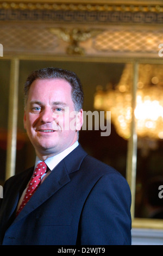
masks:
<svg viewBox="0 0 163 256"><path fill-rule="evenodd" d="M35 167L38 162L41 167L29 168L5 182L1 243L130 245L127 181L87 155L78 143L83 124L79 78L62 69L34 71L24 93L24 127L35 148ZM76 113L75 119L71 113ZM42 176L34 188L35 172L41 168L42 173L42 166L46 173L36 174Z"/></svg>

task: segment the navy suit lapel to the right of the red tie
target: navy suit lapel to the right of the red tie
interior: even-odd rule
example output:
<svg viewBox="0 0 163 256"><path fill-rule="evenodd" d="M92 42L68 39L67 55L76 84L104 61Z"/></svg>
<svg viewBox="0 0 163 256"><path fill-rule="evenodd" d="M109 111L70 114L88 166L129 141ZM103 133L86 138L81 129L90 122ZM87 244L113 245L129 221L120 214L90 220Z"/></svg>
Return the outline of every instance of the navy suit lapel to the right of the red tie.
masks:
<svg viewBox="0 0 163 256"><path fill-rule="evenodd" d="M30 212L39 207L62 186L70 182L69 173L79 169L83 158L86 156L82 147L78 146L68 156L62 160L57 167L47 176L40 187L36 190L29 202L24 206L20 214L15 218L15 222L28 215Z"/></svg>

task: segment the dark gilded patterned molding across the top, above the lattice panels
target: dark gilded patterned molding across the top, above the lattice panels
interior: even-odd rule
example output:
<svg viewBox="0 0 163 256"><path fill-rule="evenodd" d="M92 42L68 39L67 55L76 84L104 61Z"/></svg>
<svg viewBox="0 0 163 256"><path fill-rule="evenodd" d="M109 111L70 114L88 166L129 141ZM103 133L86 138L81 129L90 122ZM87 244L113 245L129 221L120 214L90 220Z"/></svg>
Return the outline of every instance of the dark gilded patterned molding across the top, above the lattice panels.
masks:
<svg viewBox="0 0 163 256"><path fill-rule="evenodd" d="M1 1L1 0L0 0ZM99 2L99 1L98 1ZM10 0L0 2L0 21L52 21L55 23L80 23L108 25L111 23L162 24L161 1L60 1ZM122 4L123 3L123 4Z"/></svg>

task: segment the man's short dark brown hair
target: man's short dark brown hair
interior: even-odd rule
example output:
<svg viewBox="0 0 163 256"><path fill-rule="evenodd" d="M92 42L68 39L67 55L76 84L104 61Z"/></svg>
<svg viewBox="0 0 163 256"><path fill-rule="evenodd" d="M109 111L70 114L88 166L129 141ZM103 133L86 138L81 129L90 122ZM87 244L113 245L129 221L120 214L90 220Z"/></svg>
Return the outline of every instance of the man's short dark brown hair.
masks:
<svg viewBox="0 0 163 256"><path fill-rule="evenodd" d="M83 89L82 84L78 78L78 76L73 72L60 68L43 68L39 70L35 70L30 74L24 84L24 100L25 104L28 99L29 88L33 81L36 79L48 79L48 78L61 78L70 83L72 87L71 95L72 101L74 102L74 106L76 111L79 111L83 107Z"/></svg>

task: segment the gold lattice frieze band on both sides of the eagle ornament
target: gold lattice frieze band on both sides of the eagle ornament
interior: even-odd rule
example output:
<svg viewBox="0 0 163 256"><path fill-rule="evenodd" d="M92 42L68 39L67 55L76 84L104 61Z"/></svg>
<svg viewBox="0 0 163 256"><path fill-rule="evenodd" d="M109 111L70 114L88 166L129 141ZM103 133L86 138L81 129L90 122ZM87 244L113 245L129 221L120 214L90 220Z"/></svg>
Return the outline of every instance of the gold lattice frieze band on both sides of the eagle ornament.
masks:
<svg viewBox="0 0 163 256"><path fill-rule="evenodd" d="M71 44L59 39L50 28L53 24L43 25L5 25L0 27L1 41L6 53L65 54ZM88 27L91 30L91 28ZM93 26L92 29L96 29ZM158 57L159 44L163 43L163 28L108 26L89 41L82 42L86 54L110 53L152 54ZM80 42L79 42L80 45ZM149 56L149 55L148 55Z"/></svg>

